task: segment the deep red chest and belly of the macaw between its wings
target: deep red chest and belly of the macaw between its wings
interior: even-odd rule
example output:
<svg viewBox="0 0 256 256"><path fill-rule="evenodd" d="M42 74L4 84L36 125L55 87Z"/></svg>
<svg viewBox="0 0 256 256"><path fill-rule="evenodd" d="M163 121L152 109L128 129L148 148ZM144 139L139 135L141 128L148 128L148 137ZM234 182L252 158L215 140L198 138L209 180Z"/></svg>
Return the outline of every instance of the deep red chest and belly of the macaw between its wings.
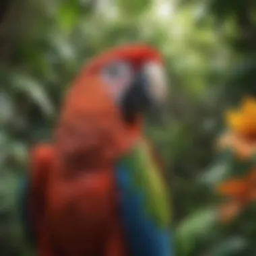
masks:
<svg viewBox="0 0 256 256"><path fill-rule="evenodd" d="M107 243L118 216L113 170L54 166L45 199L45 221L56 249L67 255L74 250L74 255L100 254L98 245Z"/></svg>

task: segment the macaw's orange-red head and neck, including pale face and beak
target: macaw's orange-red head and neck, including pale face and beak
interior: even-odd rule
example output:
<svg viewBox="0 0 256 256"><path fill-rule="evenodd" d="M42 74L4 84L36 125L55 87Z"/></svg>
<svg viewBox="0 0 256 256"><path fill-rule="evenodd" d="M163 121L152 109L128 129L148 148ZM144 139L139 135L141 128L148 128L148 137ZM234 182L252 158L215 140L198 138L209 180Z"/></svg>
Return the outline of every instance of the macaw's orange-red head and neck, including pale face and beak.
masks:
<svg viewBox="0 0 256 256"><path fill-rule="evenodd" d="M95 151L98 158L100 152L118 157L140 137L143 114L165 97L163 60L152 47L121 46L92 59L63 102L55 133L59 154L66 162L82 156L87 166Z"/></svg>

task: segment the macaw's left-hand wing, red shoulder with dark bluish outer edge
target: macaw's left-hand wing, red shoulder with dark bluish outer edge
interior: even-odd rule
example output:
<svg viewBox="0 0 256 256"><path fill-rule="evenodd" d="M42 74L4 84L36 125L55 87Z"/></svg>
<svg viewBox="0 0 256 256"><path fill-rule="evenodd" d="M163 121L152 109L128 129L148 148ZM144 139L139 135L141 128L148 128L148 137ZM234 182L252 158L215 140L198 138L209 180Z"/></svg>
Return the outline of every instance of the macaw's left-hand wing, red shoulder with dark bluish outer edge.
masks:
<svg viewBox="0 0 256 256"><path fill-rule="evenodd" d="M40 144L32 151L28 176L20 180L18 190L18 212L28 242L35 245L38 230L44 228L44 185L46 184L49 164L53 157L53 147Z"/></svg>

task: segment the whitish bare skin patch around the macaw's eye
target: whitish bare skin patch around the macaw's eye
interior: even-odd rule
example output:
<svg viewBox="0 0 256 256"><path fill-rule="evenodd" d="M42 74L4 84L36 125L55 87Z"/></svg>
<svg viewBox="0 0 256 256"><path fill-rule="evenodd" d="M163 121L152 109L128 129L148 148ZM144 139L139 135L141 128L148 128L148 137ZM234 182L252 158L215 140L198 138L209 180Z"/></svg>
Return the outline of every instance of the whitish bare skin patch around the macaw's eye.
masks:
<svg viewBox="0 0 256 256"><path fill-rule="evenodd" d="M129 88L134 77L134 71L129 63L116 61L104 67L102 77L104 82L106 82L106 90L108 90L118 102Z"/></svg>

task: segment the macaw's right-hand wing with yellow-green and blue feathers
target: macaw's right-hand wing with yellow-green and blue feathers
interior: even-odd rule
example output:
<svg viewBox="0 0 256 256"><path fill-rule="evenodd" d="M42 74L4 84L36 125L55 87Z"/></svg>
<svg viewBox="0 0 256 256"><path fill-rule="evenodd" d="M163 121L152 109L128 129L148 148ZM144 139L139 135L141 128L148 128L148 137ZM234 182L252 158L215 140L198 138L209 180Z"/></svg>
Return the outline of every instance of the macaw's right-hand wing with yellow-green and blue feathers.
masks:
<svg viewBox="0 0 256 256"><path fill-rule="evenodd" d="M121 214L133 256L170 256L170 200L146 143L140 142L117 167Z"/></svg>

